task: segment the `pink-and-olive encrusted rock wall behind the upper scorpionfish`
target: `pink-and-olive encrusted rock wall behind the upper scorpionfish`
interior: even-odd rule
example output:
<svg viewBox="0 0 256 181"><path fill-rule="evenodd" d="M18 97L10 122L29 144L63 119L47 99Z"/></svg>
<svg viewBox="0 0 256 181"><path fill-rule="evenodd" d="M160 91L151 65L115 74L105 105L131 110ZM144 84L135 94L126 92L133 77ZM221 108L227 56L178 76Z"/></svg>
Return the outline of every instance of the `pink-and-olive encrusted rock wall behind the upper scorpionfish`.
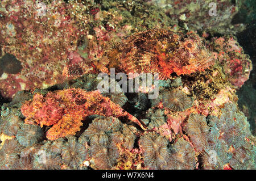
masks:
<svg viewBox="0 0 256 181"><path fill-rule="evenodd" d="M166 6L159 5L159 2ZM202 3L142 0L1 1L1 96L10 99L20 90L34 87L44 89L83 73L105 72L105 65L108 64L104 61L106 51L118 46L125 37L135 32L150 28L174 32L199 31L201 36L210 39L216 32L227 35L244 30L244 24L232 23L241 8L240 1L221 1L222 6L216 12L218 16L209 16L209 2ZM248 69L248 63L243 62L247 57L230 52L241 51L241 48L227 47L228 41L236 44L236 39L233 42L229 37L222 39L216 37L215 43L212 40L213 50L222 53L220 47L224 47L224 52L230 54L228 63L235 64L233 72L245 71L246 66ZM113 55L118 50L113 49L108 53L112 65L117 64ZM241 67L235 70L237 66L243 66L242 70ZM249 71L241 74L245 74L240 75L244 77L244 82Z"/></svg>

